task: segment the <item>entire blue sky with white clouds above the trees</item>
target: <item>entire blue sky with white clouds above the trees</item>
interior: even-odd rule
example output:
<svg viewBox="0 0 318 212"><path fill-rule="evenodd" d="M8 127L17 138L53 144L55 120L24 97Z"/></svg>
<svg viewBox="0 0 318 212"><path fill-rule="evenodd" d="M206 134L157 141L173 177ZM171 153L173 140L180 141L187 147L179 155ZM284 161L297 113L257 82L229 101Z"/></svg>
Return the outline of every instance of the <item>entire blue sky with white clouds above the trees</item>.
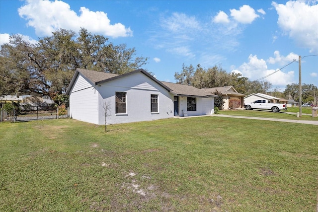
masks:
<svg viewBox="0 0 318 212"><path fill-rule="evenodd" d="M182 64L256 80L296 60L264 79L283 91L299 82L300 55L302 83L318 86L318 0L0 0L1 45L80 27L135 47L162 81Z"/></svg>

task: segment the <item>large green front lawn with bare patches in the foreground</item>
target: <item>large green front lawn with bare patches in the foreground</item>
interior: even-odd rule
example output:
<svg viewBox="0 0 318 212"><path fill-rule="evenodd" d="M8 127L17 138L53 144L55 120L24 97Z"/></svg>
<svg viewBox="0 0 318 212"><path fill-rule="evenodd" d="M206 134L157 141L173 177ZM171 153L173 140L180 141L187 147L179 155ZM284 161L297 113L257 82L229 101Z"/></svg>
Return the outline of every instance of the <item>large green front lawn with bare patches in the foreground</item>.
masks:
<svg viewBox="0 0 318 212"><path fill-rule="evenodd" d="M253 112L253 111L249 111ZM0 124L0 211L315 211L317 126Z"/></svg>

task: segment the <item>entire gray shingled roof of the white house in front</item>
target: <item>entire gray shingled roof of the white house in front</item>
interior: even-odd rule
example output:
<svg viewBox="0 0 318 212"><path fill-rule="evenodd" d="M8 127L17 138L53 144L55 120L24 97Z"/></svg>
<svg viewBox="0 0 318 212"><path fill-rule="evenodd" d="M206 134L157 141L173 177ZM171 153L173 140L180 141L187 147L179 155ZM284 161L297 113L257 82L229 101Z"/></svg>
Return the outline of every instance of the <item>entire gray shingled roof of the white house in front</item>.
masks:
<svg viewBox="0 0 318 212"><path fill-rule="evenodd" d="M106 73L106 72L102 72L102 71L91 71L91 70L85 70L85 69L77 69L73 75L73 78L70 82L70 85L66 91L66 94L69 95L71 92L71 89L79 75L79 73L81 73L91 84L93 85L98 85L107 81L111 81L114 79L118 79L130 74L134 74L136 72L141 72L143 74L145 74L146 76L148 76L150 79L154 80L155 82L157 82L160 86L162 86L163 88L165 88L166 90L168 90L169 92L172 92L174 95L177 96L198 96L198 97L218 97L217 95L205 92L199 88L193 87L193 86L189 86L189 85L182 85L182 84L176 84L176 83L172 83L172 82L163 82L163 81L159 81L158 79L156 79L154 76L152 76L150 73L148 73L147 71L143 70L143 69L138 69L135 71L131 71L128 73L124 73L124 74L114 74L114 73Z"/></svg>

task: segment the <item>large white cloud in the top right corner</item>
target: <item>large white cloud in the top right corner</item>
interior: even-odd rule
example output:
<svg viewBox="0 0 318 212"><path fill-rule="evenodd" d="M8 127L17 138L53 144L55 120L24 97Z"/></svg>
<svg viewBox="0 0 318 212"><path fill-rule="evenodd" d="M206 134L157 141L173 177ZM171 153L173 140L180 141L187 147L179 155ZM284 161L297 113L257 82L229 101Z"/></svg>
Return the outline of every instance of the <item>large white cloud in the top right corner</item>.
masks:
<svg viewBox="0 0 318 212"><path fill-rule="evenodd" d="M318 52L318 1L272 2L278 14L278 26L299 45ZM316 5L311 5L316 3Z"/></svg>

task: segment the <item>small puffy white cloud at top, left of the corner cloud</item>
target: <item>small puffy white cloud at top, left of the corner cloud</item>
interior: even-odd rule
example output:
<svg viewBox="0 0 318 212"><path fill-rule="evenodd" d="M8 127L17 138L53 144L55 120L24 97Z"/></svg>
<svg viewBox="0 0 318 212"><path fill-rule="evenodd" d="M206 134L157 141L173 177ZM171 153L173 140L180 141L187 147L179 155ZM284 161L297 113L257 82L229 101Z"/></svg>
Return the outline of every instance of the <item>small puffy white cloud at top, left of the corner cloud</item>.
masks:
<svg viewBox="0 0 318 212"><path fill-rule="evenodd" d="M251 23L255 18L259 17L259 15L255 13L255 10L249 5L243 5L239 7L239 10L230 9L230 11L231 16L239 23L243 24Z"/></svg>

